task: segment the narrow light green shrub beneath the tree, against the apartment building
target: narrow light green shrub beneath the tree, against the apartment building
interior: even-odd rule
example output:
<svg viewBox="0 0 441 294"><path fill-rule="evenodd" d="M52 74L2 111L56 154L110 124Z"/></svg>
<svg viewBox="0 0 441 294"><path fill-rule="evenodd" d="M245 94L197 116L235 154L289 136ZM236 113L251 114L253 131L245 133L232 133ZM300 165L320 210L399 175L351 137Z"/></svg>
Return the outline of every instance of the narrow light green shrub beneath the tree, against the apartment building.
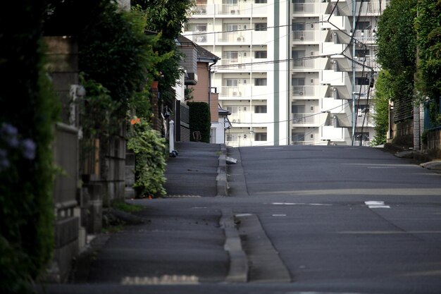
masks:
<svg viewBox="0 0 441 294"><path fill-rule="evenodd" d="M385 144L387 130L389 128L389 101L392 99L392 90L389 87L390 73L383 70L378 73L375 86L375 96L372 99L375 112L373 120L375 121L375 136L371 145L378 146Z"/></svg>

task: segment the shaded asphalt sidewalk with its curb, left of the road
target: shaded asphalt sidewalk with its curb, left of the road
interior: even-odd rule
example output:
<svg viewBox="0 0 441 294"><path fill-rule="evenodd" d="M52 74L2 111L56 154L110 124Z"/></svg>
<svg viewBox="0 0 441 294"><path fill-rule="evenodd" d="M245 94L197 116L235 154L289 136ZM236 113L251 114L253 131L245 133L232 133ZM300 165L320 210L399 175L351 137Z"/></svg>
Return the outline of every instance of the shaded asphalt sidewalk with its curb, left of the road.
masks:
<svg viewBox="0 0 441 294"><path fill-rule="evenodd" d="M246 280L247 259L237 245L232 212L198 207L208 197L227 196L225 145L177 142L175 149L178 156L167 162L165 199L128 200L146 205L135 213L142 223L98 235L78 257L70 285ZM62 290L52 285L47 293Z"/></svg>

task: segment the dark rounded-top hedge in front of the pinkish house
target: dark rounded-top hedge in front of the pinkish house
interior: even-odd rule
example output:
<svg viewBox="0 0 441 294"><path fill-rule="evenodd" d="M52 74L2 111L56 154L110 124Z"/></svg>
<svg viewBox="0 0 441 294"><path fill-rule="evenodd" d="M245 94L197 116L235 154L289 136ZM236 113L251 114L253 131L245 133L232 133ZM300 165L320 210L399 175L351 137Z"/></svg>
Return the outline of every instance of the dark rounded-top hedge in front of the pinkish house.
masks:
<svg viewBox="0 0 441 294"><path fill-rule="evenodd" d="M188 102L190 107L190 133L201 132L201 142L210 142L210 107L205 102ZM194 141L194 138L191 138Z"/></svg>

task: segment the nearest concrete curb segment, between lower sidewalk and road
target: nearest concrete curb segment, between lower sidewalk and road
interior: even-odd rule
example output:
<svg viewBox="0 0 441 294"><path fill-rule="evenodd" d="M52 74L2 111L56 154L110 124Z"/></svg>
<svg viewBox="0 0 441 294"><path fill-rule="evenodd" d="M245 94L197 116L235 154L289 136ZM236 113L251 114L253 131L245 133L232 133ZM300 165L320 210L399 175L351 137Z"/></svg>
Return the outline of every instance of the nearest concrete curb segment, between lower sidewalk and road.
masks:
<svg viewBox="0 0 441 294"><path fill-rule="evenodd" d="M242 242L235 226L232 210L222 209L222 217L219 222L225 231L225 245L223 247L230 255L230 269L225 282L246 283L248 281L248 259L242 249Z"/></svg>

